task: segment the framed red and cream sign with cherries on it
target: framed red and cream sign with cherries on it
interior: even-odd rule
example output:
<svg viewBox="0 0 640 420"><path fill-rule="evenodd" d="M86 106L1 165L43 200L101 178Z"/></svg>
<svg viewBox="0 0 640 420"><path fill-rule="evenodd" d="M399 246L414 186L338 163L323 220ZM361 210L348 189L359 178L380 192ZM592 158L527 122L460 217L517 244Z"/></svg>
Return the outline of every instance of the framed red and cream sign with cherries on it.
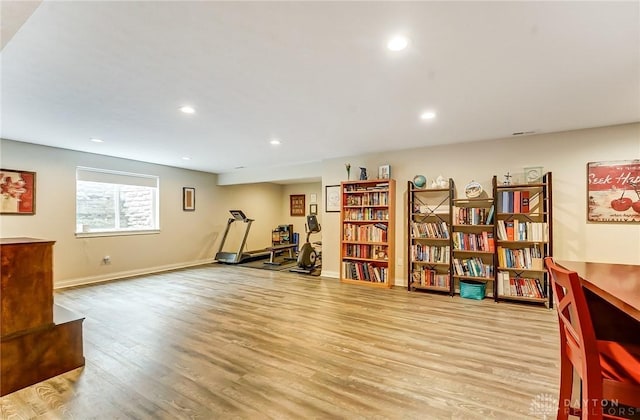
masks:
<svg viewBox="0 0 640 420"><path fill-rule="evenodd" d="M587 221L640 223L640 159L587 163Z"/></svg>

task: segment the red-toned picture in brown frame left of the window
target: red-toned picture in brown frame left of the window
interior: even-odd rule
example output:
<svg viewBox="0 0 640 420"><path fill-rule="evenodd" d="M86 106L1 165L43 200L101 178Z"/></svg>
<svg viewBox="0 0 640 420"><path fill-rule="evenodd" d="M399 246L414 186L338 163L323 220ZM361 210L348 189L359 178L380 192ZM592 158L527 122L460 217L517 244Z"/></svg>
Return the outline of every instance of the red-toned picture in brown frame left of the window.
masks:
<svg viewBox="0 0 640 420"><path fill-rule="evenodd" d="M36 173L0 169L0 214L36 214Z"/></svg>

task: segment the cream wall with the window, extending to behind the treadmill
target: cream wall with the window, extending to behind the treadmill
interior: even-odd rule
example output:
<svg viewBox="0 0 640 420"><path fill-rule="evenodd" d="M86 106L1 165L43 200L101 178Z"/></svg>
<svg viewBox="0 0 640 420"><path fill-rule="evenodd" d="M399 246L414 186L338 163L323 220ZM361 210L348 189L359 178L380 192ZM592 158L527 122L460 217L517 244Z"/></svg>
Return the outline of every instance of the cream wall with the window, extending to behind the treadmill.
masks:
<svg viewBox="0 0 640 420"><path fill-rule="evenodd" d="M216 175L204 172L8 140L0 146L2 168L36 172L36 214L0 216L0 236L56 241L56 287L212 262L231 208L256 219L248 249L270 245L271 229L281 223L282 187L275 184L219 187ZM77 166L159 176L161 232L76 238ZM196 211L182 211L182 187L195 187ZM102 263L105 255L110 265Z"/></svg>

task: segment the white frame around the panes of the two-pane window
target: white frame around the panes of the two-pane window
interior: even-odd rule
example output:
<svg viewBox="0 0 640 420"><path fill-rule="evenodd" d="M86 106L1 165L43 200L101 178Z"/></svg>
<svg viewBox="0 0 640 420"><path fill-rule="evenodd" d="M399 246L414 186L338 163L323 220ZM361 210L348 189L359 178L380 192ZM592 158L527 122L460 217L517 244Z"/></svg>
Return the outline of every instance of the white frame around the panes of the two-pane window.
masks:
<svg viewBox="0 0 640 420"><path fill-rule="evenodd" d="M78 224L78 182L79 181L92 181L100 182L108 185L113 185L119 188L122 185L134 185L155 188L155 203L154 203L154 221L155 227L150 229L100 229L100 230L81 230L81 226ZM119 191L115 194L119 198ZM160 233L160 177L156 175L138 174L132 172L114 171L109 169L89 168L84 166L78 166L76 168L76 232L75 235L78 238L96 237L96 236L124 236L124 235L148 235ZM115 226L119 225L120 211L118 209L118 200L114 203L115 209Z"/></svg>

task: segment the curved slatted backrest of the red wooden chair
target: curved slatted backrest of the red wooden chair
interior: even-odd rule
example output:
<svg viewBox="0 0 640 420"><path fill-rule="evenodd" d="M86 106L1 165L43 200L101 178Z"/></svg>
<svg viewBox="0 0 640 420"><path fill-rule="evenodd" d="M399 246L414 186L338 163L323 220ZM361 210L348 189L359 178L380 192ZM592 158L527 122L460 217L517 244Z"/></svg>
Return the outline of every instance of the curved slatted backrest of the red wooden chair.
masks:
<svg viewBox="0 0 640 420"><path fill-rule="evenodd" d="M558 266L551 257L544 259L560 324L560 346L591 395L602 395L602 371L596 336L580 277Z"/></svg>

